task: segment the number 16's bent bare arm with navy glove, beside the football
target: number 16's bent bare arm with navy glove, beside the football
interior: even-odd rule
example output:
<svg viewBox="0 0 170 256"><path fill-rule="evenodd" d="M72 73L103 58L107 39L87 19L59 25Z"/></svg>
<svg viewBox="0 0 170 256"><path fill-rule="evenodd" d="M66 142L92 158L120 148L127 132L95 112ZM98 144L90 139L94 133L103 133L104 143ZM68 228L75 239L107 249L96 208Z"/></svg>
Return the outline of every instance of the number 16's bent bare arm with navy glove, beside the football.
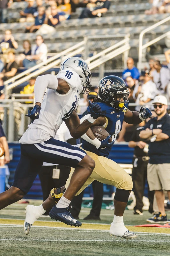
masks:
<svg viewBox="0 0 170 256"><path fill-rule="evenodd" d="M73 138L78 139L81 137L102 113L101 108L97 103L89 105L89 109L90 116L82 124L80 124L80 119L75 112L73 112L68 119L64 120Z"/></svg>

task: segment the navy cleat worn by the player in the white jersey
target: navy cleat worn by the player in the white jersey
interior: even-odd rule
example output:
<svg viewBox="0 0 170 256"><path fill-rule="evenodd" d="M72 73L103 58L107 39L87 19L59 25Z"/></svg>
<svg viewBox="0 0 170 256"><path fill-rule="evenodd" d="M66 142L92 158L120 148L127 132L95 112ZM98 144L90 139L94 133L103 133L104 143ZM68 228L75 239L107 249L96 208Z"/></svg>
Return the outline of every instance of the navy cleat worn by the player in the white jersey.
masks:
<svg viewBox="0 0 170 256"><path fill-rule="evenodd" d="M57 208L55 205L49 212L51 219L59 220L67 225L80 227L82 224L77 219L74 219L68 208Z"/></svg>

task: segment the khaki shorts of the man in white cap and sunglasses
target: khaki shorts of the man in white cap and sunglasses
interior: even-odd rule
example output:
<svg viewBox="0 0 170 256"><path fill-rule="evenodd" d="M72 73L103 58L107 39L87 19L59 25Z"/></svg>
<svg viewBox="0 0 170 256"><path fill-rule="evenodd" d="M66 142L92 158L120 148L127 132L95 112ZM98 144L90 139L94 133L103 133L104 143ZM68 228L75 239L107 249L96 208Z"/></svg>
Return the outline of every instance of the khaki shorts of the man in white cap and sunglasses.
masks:
<svg viewBox="0 0 170 256"><path fill-rule="evenodd" d="M170 190L170 163L150 164L147 167L149 190Z"/></svg>

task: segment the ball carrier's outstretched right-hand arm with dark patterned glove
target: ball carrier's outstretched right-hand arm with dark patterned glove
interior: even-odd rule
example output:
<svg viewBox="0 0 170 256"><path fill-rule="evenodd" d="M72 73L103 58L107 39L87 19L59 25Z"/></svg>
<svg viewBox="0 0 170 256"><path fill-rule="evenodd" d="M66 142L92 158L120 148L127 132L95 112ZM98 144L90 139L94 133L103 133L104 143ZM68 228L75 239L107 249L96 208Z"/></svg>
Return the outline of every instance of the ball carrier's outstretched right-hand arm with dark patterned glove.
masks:
<svg viewBox="0 0 170 256"><path fill-rule="evenodd" d="M124 121L128 124L139 124L151 116L151 111L146 107L141 107L140 113L137 111L130 111L128 109L128 111L125 112Z"/></svg>

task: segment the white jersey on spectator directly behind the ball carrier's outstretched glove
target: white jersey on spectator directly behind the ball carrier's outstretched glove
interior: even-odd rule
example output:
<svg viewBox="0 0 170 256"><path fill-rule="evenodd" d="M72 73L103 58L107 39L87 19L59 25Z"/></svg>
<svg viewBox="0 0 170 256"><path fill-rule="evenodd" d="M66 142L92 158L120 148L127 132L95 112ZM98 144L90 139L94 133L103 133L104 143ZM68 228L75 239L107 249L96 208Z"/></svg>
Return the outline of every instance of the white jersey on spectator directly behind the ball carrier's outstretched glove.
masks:
<svg viewBox="0 0 170 256"><path fill-rule="evenodd" d="M156 84L153 83L152 80L149 80L148 82L142 85L141 92L138 94L136 99L136 104L140 105L140 101L146 101L147 99L151 99L149 103L152 103L152 100L158 94L159 91L157 90ZM140 112L140 108L141 106L137 106L135 110Z"/></svg>

